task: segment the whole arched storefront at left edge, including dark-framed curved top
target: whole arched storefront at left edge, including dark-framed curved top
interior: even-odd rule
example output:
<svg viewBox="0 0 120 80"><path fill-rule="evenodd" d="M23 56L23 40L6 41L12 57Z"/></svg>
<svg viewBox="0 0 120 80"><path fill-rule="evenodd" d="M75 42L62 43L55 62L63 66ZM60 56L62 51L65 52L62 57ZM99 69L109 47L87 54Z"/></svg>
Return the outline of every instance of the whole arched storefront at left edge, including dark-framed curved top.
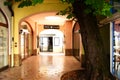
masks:
<svg viewBox="0 0 120 80"><path fill-rule="evenodd" d="M0 69L8 66L8 21L0 8Z"/></svg>

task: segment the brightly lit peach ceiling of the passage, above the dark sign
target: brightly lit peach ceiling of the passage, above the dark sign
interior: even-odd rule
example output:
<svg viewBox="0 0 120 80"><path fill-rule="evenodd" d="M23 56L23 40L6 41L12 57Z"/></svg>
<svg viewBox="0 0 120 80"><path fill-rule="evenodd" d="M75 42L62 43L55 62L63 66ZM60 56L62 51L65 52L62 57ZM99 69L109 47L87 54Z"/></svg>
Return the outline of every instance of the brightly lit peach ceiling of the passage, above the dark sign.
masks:
<svg viewBox="0 0 120 80"><path fill-rule="evenodd" d="M43 12L34 14L26 18L26 20L31 20L37 22L37 24L47 24L47 25L63 25L66 16L56 15L57 12Z"/></svg>

